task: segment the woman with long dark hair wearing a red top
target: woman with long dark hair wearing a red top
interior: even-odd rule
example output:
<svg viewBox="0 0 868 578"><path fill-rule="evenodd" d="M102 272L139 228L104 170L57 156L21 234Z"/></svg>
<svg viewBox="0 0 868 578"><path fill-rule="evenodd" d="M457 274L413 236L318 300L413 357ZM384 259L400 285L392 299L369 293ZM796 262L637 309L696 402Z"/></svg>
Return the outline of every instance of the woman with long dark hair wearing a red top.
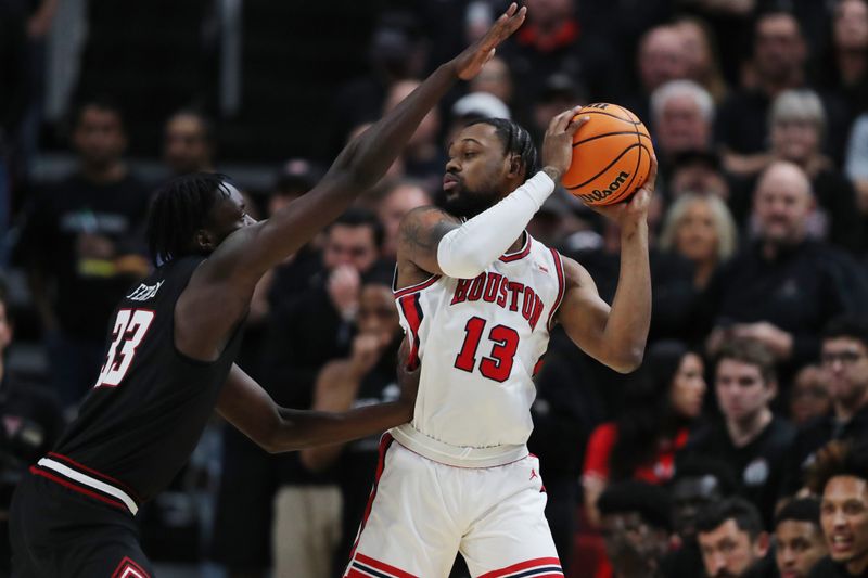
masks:
<svg viewBox="0 0 868 578"><path fill-rule="evenodd" d="M663 484L672 477L675 452L702 413L702 359L681 343L649 348L636 380L626 386L618 419L597 427L588 441L582 485L591 523L599 523L597 500L611 481Z"/></svg>

